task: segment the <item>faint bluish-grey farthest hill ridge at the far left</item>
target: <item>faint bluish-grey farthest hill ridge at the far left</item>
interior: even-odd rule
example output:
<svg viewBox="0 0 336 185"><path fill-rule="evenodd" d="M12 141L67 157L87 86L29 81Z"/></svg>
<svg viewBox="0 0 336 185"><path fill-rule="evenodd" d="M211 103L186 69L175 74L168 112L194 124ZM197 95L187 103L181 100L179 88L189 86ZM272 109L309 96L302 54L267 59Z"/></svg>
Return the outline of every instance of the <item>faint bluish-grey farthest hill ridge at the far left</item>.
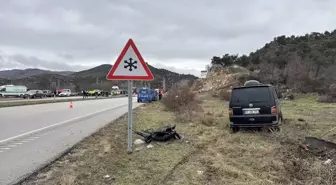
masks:
<svg viewBox="0 0 336 185"><path fill-rule="evenodd" d="M0 71L0 78L24 78L42 74L56 74L56 75L68 76L72 73L73 73L72 71L49 71L36 68L12 69L12 70Z"/></svg>

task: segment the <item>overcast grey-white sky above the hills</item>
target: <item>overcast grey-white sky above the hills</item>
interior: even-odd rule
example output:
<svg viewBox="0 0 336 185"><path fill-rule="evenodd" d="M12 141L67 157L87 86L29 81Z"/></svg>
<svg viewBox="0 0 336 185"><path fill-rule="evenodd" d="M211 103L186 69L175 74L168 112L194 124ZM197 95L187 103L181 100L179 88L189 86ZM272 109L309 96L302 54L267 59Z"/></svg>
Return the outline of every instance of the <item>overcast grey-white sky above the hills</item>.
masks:
<svg viewBox="0 0 336 185"><path fill-rule="evenodd" d="M133 38L149 64L200 75L214 55L336 29L335 0L0 0L0 69L113 64Z"/></svg>

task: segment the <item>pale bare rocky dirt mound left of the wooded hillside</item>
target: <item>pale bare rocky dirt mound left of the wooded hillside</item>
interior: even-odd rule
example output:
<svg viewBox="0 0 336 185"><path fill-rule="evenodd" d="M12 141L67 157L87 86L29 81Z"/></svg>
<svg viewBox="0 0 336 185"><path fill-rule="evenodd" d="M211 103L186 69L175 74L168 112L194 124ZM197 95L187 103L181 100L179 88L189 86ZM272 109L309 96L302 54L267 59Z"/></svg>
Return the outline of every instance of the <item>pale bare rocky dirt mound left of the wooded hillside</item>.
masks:
<svg viewBox="0 0 336 185"><path fill-rule="evenodd" d="M258 80L257 75L257 72L251 72L237 65L210 71L207 78L197 80L195 91L198 93L212 92L218 95L220 91L242 86L247 80Z"/></svg>

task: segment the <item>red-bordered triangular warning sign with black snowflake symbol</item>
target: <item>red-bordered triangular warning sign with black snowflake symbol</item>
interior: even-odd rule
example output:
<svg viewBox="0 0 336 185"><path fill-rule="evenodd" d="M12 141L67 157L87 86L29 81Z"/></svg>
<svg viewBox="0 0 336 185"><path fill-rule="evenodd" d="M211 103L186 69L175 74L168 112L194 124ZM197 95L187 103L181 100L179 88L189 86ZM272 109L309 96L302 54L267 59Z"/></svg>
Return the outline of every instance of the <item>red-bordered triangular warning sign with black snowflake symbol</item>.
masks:
<svg viewBox="0 0 336 185"><path fill-rule="evenodd" d="M107 80L154 80L152 72L132 39L129 39L117 61L106 76Z"/></svg>

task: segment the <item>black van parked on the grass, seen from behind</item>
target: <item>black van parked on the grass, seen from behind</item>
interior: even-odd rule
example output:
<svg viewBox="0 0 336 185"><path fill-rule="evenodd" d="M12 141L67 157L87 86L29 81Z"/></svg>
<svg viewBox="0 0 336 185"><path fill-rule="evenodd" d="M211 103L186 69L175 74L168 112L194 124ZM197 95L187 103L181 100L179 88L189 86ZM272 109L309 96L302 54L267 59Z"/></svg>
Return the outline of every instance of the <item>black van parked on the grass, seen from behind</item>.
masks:
<svg viewBox="0 0 336 185"><path fill-rule="evenodd" d="M272 85L255 84L232 89L229 103L230 128L274 127L283 120L280 101Z"/></svg>

